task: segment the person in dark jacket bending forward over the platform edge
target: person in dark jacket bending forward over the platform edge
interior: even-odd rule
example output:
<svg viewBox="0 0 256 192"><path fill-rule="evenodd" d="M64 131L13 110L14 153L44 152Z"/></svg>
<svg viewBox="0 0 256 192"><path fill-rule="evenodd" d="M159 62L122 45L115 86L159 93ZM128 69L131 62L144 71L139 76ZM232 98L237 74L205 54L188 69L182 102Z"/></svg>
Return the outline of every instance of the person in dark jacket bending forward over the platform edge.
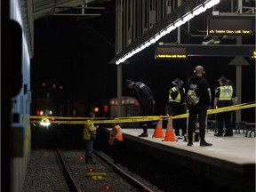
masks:
<svg viewBox="0 0 256 192"><path fill-rule="evenodd" d="M133 82L130 79L125 80L125 85L132 89L135 98L140 103L140 115L141 116L154 116L155 115L155 100L153 92L147 84L142 82ZM148 122L142 123L143 132L139 137L148 137Z"/></svg>

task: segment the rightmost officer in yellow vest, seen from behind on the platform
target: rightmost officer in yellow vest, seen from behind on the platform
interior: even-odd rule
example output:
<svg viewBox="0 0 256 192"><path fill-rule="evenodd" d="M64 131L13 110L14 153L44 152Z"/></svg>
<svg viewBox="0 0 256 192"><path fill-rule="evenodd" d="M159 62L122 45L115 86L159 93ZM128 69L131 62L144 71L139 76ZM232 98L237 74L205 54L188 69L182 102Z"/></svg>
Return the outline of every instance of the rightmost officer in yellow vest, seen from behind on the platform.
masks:
<svg viewBox="0 0 256 192"><path fill-rule="evenodd" d="M218 87L216 90L213 108L225 108L228 106L236 105L236 93L234 92L233 86L228 84L227 77L221 76L218 81L220 82L220 87ZM218 132L214 134L215 136L223 136L224 124L226 128L224 136L233 136L231 115L232 113L230 111L217 114Z"/></svg>

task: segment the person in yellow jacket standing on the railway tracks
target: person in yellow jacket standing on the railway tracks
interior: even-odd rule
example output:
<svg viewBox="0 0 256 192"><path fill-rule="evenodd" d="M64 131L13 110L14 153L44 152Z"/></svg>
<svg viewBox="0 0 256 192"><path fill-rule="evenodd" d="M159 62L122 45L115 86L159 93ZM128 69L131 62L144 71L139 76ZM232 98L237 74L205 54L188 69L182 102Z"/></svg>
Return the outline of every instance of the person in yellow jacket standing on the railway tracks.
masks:
<svg viewBox="0 0 256 192"><path fill-rule="evenodd" d="M85 164L96 164L92 155L92 150L93 142L96 140L96 130L98 129L98 125L95 126L92 123L94 117L95 115L90 113L90 119L84 124L83 139L85 141Z"/></svg>

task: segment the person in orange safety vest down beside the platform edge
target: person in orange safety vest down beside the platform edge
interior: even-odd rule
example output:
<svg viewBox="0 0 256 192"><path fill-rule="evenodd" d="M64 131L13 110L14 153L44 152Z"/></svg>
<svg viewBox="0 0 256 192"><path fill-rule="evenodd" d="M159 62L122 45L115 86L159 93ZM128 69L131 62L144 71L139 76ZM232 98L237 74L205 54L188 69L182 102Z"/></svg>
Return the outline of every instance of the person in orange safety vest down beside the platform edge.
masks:
<svg viewBox="0 0 256 192"><path fill-rule="evenodd" d="M116 119L118 121L118 119ZM123 144L123 132L122 128L118 123L115 123L113 128L109 132L108 143L111 146L111 154L114 158L114 163L120 163L122 154L122 144Z"/></svg>

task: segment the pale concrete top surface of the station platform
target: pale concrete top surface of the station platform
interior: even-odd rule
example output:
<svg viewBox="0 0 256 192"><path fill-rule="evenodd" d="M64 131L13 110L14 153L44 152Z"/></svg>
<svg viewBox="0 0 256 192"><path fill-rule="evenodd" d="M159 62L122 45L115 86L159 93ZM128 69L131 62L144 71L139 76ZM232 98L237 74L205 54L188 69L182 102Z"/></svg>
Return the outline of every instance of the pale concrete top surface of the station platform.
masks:
<svg viewBox="0 0 256 192"><path fill-rule="evenodd" d="M163 129L165 137L166 129ZM175 137L178 141L163 141L164 138L152 138L154 135L154 129L148 129L148 138L139 138L138 135L142 132L142 129L123 128L124 137L130 136L134 140L144 140L153 143L160 144L157 148L169 147L172 148L174 153L178 153L180 150L183 153L193 158L195 154L212 157L213 159L220 161L227 161L234 164L255 164L255 138L244 137L245 133L234 133L233 137L216 137L214 132L206 130L205 140L212 143L212 147L199 147L199 142L194 142L192 147L187 146L187 142L184 141L184 137ZM177 149L177 150L175 150ZM192 153L191 153L192 152ZM196 156L195 156L196 158Z"/></svg>

